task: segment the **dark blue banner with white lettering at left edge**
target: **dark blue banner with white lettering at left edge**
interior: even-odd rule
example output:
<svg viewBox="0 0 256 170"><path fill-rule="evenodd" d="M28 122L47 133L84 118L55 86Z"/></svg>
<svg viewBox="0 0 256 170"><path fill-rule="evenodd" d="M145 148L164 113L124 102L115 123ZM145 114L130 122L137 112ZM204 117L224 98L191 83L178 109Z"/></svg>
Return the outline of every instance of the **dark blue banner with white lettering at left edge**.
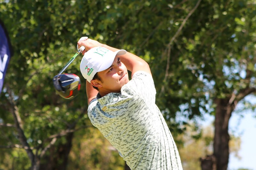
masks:
<svg viewBox="0 0 256 170"><path fill-rule="evenodd" d="M11 45L4 24L0 20L0 93L4 85L4 77L11 58Z"/></svg>

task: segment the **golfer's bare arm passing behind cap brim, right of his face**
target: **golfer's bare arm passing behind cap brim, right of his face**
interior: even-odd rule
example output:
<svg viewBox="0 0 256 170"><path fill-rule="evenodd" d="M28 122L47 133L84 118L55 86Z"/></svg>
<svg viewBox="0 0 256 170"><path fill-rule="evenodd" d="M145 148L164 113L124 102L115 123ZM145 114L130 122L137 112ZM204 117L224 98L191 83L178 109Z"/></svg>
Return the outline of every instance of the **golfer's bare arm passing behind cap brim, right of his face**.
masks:
<svg viewBox="0 0 256 170"><path fill-rule="evenodd" d="M108 48L111 51L118 50L117 48L110 47L106 44L103 44L102 46L105 48ZM124 63L124 65L126 66L127 70L132 71L132 74L139 70L146 71L151 74L148 63L145 62L140 57L138 57L137 55L127 52L125 55L120 55L119 57L121 61Z"/></svg>

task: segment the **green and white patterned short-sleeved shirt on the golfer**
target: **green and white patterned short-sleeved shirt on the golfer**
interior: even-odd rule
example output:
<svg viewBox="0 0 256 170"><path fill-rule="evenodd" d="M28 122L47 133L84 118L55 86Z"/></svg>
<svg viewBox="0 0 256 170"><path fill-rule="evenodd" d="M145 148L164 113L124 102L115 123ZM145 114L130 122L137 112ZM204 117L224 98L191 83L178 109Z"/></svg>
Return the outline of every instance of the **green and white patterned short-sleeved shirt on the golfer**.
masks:
<svg viewBox="0 0 256 170"><path fill-rule="evenodd" d="M152 76L137 71L120 93L101 98L98 94L88 116L132 170L181 170L179 152L155 96Z"/></svg>

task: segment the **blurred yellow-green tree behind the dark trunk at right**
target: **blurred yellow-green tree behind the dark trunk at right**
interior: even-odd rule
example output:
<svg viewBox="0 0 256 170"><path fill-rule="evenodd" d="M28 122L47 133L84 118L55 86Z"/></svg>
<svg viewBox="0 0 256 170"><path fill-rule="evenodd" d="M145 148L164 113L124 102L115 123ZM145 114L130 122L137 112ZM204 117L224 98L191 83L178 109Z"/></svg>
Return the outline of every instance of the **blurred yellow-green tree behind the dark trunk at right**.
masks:
<svg viewBox="0 0 256 170"><path fill-rule="evenodd" d="M213 153L214 127L210 124L198 128L193 122L188 122L185 127L185 132L178 136L178 139L183 141L183 147L179 149L183 170L200 170L200 159ZM234 153L236 158L240 159L240 137L231 134L229 144L230 153Z"/></svg>

